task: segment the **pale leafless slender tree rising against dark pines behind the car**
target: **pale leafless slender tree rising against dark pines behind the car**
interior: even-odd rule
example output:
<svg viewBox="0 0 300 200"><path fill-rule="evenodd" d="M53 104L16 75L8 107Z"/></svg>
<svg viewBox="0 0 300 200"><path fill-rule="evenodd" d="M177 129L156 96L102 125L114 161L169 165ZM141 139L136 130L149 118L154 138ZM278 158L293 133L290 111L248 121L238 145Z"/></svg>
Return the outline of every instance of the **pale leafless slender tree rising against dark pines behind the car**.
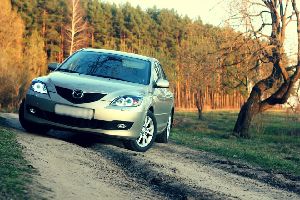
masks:
<svg viewBox="0 0 300 200"><path fill-rule="evenodd" d="M86 23L83 23L83 13L80 7L80 0L71 0L70 15L71 25L66 27L66 35L69 37L70 42L70 55L73 53L78 43L85 38L80 38L79 32L86 29Z"/></svg>

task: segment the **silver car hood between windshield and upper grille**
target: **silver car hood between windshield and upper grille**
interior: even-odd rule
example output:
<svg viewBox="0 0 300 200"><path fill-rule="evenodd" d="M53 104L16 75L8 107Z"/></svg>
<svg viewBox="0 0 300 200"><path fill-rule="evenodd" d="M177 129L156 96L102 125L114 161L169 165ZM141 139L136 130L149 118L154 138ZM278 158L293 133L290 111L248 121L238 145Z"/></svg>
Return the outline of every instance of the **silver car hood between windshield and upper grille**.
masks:
<svg viewBox="0 0 300 200"><path fill-rule="evenodd" d="M150 90L149 85L69 72L54 71L36 79L45 83L49 92L56 93L55 86L59 86L71 90L107 94L101 99L104 101L113 101L123 95L140 96Z"/></svg>

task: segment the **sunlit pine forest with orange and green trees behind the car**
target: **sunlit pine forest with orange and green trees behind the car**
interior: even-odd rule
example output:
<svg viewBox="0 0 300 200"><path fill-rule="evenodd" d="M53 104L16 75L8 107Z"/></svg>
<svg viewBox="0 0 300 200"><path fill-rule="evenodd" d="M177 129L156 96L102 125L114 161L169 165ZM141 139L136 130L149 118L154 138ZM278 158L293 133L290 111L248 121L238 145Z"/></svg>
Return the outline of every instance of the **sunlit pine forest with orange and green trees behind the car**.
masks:
<svg viewBox="0 0 300 200"><path fill-rule="evenodd" d="M254 59L241 62L268 41L253 39L229 53L245 37L229 25L204 24L201 13L190 19L174 9L142 10L128 2L1 0L0 19L0 108L18 108L32 79L49 73L50 62L86 47L157 58L176 109L240 109L254 84L272 71Z"/></svg>

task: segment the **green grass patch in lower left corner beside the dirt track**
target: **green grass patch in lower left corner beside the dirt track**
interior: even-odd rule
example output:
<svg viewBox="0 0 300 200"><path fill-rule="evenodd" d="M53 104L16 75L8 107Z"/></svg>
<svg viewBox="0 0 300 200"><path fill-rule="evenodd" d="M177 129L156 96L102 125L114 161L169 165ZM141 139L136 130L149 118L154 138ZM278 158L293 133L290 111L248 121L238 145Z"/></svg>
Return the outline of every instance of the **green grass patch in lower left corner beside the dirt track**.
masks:
<svg viewBox="0 0 300 200"><path fill-rule="evenodd" d="M28 187L33 170L27 167L16 136L2 127L4 123L0 117L0 199L32 199Z"/></svg>

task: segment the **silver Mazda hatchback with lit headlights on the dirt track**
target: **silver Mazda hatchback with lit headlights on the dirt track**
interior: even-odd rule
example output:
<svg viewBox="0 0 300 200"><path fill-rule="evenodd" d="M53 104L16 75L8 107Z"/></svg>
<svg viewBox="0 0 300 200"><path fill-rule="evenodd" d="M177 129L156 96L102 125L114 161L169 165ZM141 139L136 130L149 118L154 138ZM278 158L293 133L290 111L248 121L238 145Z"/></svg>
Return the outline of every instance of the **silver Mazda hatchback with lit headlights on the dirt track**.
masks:
<svg viewBox="0 0 300 200"><path fill-rule="evenodd" d="M98 134L145 152L168 143L174 96L155 58L102 49L81 49L49 75L35 78L19 109L22 127Z"/></svg>

